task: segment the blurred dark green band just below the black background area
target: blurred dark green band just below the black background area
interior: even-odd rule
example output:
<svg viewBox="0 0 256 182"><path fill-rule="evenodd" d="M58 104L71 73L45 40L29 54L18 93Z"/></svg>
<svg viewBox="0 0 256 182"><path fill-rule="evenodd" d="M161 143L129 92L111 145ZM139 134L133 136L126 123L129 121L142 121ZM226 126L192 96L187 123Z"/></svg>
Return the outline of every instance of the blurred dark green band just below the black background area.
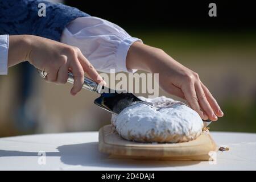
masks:
<svg viewBox="0 0 256 182"><path fill-rule="evenodd" d="M237 51L256 50L256 30L136 30L127 28L143 43L162 48L167 53L190 53L223 48ZM129 31L130 30L130 31ZM171 52L170 52L171 51Z"/></svg>

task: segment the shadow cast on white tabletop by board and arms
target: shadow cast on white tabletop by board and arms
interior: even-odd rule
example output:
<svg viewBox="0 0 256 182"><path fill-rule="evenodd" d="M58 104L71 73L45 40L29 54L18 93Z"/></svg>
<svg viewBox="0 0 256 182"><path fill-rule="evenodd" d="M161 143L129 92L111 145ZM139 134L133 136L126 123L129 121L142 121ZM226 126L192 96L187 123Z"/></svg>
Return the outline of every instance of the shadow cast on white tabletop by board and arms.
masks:
<svg viewBox="0 0 256 182"><path fill-rule="evenodd" d="M68 165L81 165L92 167L113 168L156 168L156 167L179 167L198 164L197 161L168 161L168 160L136 160L114 159L108 154L98 151L98 142L67 144L57 147L59 152L46 152L46 156L60 156L61 162ZM3 156L38 156L38 152L0 150Z"/></svg>

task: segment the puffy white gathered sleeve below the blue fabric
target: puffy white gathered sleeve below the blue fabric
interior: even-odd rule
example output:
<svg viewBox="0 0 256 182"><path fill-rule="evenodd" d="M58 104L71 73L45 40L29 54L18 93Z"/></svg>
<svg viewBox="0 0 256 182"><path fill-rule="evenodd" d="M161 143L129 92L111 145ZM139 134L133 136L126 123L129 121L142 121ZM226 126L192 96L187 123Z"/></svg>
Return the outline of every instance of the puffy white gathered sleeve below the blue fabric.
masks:
<svg viewBox="0 0 256 182"><path fill-rule="evenodd" d="M101 72L135 72L127 70L126 55L133 38L121 27L105 19L86 16L73 20L64 29L61 42L79 47L83 55Z"/></svg>

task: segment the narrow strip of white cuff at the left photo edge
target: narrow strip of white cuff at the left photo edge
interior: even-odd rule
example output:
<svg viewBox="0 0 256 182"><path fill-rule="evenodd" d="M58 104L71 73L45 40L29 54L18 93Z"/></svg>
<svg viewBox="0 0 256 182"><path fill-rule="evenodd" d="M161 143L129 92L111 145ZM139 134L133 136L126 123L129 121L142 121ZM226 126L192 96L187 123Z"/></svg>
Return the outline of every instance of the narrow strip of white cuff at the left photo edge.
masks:
<svg viewBox="0 0 256 182"><path fill-rule="evenodd" d="M0 35L0 75L8 73L9 35Z"/></svg>

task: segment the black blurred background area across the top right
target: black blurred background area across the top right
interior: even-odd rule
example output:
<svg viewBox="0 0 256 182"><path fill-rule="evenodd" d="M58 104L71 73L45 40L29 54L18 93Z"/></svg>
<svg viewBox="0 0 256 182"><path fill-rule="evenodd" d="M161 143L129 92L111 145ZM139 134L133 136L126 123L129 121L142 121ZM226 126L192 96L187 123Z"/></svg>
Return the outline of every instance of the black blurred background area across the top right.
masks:
<svg viewBox="0 0 256 182"><path fill-rule="evenodd" d="M123 28L230 29L255 28L253 1L64 1L92 15L105 18ZM209 3L216 3L217 16L208 15Z"/></svg>

